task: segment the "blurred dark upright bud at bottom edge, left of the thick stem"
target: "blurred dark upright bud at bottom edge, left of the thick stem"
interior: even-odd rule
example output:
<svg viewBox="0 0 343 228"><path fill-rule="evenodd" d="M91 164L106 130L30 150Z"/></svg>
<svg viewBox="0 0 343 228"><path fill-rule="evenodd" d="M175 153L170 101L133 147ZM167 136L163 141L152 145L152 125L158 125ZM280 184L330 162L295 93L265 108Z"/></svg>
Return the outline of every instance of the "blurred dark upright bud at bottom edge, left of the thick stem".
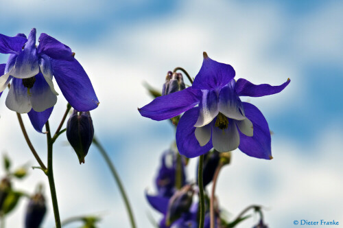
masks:
<svg viewBox="0 0 343 228"><path fill-rule="evenodd" d="M32 196L26 208L25 228L38 228L47 212L43 194L37 193Z"/></svg>

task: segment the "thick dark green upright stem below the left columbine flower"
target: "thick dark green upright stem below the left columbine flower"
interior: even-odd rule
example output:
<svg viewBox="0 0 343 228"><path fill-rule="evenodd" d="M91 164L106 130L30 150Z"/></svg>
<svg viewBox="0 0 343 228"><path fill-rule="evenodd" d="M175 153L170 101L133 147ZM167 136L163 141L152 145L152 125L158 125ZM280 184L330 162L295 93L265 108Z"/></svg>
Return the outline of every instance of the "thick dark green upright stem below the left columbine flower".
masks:
<svg viewBox="0 0 343 228"><path fill-rule="evenodd" d="M60 213L58 212L58 202L57 202L56 188L55 188L55 181L54 181L54 171L52 168L53 143L51 141L49 121L47 121L47 123L45 124L45 128L47 130L47 178L49 179L51 201L52 201L52 207L54 207L56 228L61 228Z"/></svg>

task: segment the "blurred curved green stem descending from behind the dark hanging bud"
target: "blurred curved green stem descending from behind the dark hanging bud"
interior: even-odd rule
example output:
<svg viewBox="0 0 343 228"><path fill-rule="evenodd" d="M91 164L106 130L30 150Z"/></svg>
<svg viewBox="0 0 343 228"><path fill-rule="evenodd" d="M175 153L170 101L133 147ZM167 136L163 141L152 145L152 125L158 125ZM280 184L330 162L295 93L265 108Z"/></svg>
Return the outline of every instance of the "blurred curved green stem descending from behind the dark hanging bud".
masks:
<svg viewBox="0 0 343 228"><path fill-rule="evenodd" d="M131 227L136 228L136 224L134 223L134 217L133 217L132 209L131 209L130 203L128 201L128 196L126 196L126 192L125 192L123 184L121 183L121 180L119 178L119 174L115 170L115 166L113 165L112 161L110 161L110 158L108 157L106 150L102 147L102 145L99 143L99 141L97 141L96 137L94 137L94 139L93 139L93 144L99 149L99 152L102 154L102 157L104 157L104 159L108 165L108 168L110 168L110 171L112 172L113 177L115 178L115 181L116 181L116 183L119 187L119 190L121 192L121 196L123 197L123 201L125 203L126 210L128 211Z"/></svg>

